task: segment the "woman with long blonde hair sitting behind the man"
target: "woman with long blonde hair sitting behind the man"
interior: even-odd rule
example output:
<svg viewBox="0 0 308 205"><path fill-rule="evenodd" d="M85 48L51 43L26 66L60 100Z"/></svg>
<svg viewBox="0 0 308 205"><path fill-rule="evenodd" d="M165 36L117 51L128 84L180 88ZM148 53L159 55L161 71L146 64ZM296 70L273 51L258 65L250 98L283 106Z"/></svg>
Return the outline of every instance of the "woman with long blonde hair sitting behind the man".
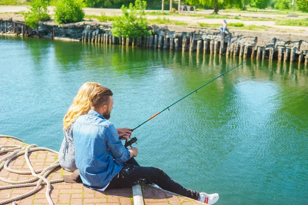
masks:
<svg viewBox="0 0 308 205"><path fill-rule="evenodd" d="M59 151L59 162L63 169L69 172L75 171L75 154L74 154L74 144L73 144L73 124L75 120L80 116L87 114L91 109L89 96L92 91L100 87L99 83L87 82L82 85L77 95L73 98L73 104L69 107L65 117L63 118L63 133L64 139ZM123 136L123 139L129 139L131 131L129 128L119 128L117 129L119 136ZM138 165L137 161L131 158L127 163L132 163L133 165Z"/></svg>

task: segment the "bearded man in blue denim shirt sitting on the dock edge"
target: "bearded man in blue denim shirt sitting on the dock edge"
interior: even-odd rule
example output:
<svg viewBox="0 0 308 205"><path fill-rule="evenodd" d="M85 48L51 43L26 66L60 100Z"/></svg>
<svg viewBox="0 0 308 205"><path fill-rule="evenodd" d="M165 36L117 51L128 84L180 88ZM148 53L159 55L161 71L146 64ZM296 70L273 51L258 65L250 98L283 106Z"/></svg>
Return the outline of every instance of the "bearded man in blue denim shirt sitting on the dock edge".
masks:
<svg viewBox="0 0 308 205"><path fill-rule="evenodd" d="M78 117L73 126L76 167L84 186L105 191L138 183L156 183L164 190L214 204L218 194L186 189L159 168L123 163L136 157L138 149L125 149L117 130L108 120L113 108L112 95L106 87L95 88L90 96L91 110Z"/></svg>

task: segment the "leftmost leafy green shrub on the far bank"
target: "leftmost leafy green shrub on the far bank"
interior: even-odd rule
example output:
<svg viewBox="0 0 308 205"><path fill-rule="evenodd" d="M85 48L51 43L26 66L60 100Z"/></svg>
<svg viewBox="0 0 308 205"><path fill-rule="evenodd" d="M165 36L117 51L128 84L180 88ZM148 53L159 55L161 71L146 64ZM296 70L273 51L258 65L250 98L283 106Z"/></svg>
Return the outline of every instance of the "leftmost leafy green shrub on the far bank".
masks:
<svg viewBox="0 0 308 205"><path fill-rule="evenodd" d="M23 12L23 14L25 15L25 23L28 24L30 28L36 28L39 22L50 19L47 10L47 1L34 0L30 4L30 11Z"/></svg>

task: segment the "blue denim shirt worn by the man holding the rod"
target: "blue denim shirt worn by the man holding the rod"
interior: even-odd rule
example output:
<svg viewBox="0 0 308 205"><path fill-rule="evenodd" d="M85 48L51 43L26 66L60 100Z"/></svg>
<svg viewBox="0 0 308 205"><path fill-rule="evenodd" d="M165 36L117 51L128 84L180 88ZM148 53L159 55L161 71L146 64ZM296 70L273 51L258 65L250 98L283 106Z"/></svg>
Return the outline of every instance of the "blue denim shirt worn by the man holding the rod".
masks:
<svg viewBox="0 0 308 205"><path fill-rule="evenodd" d="M73 136L76 167L84 186L91 189L106 187L130 158L117 129L94 110L76 119Z"/></svg>

